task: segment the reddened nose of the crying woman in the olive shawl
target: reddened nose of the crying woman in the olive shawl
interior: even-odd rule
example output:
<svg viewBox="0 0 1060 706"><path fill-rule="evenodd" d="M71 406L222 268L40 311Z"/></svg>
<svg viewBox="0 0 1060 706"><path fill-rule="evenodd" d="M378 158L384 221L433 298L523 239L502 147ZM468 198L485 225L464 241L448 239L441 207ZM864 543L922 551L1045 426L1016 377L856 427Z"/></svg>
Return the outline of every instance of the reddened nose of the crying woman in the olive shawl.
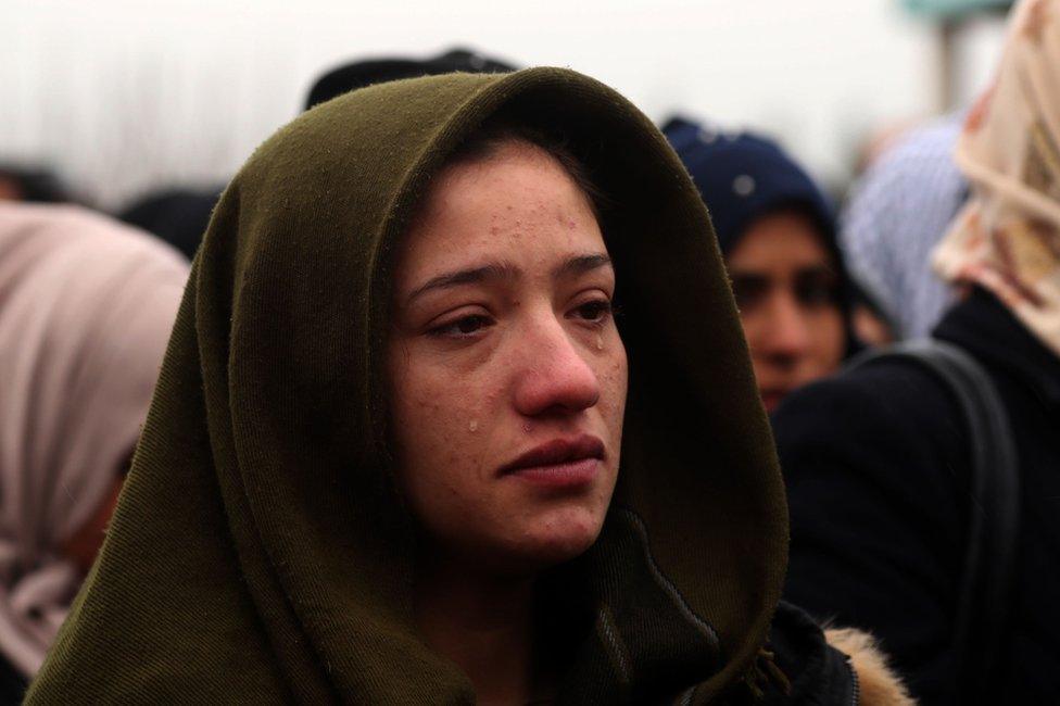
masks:
<svg viewBox="0 0 1060 706"><path fill-rule="evenodd" d="M522 370L516 378L515 405L526 416L570 414L596 404L600 380L584 343L555 317L537 322L519 344Z"/></svg>

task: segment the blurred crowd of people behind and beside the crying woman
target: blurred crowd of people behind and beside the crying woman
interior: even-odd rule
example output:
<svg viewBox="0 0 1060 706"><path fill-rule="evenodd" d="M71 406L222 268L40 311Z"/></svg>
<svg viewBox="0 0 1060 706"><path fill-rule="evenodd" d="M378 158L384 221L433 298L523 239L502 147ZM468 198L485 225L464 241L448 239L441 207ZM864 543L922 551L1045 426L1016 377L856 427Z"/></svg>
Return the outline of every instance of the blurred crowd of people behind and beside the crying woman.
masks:
<svg viewBox="0 0 1060 706"><path fill-rule="evenodd" d="M504 56L353 60L307 80L301 108L521 67ZM707 205L771 415L785 598L873 634L925 704L1060 697L1060 3L1018 3L996 59L974 100L880 126L846 186L750 118L656 116ZM62 164L5 156L0 701L17 703L103 540L227 177L103 207ZM1005 439L984 441L931 365L869 357L928 339L972 358ZM981 471L994 445L1008 461Z"/></svg>

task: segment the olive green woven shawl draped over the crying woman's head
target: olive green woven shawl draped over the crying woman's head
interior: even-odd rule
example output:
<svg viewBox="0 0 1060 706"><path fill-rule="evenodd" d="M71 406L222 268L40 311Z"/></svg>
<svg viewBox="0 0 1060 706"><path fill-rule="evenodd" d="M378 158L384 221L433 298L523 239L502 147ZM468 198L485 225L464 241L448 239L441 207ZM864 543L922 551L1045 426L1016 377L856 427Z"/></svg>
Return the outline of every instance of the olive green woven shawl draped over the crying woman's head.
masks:
<svg viewBox="0 0 1060 706"><path fill-rule="evenodd" d="M576 73L382 84L304 114L225 192L101 557L29 703L465 704L418 636L380 375L390 269L431 176L503 116L561 128L611 207L630 389L559 703L748 680L786 510L707 213L666 140Z"/></svg>

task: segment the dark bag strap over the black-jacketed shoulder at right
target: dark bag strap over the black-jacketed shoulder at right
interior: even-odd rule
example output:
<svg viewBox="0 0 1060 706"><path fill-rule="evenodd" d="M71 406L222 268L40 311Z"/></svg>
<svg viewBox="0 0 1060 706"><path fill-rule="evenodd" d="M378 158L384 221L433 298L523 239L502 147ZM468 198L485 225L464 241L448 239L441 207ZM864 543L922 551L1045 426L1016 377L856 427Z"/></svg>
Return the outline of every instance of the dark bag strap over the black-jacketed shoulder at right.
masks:
<svg viewBox="0 0 1060 706"><path fill-rule="evenodd" d="M970 444L968 543L954 646L961 704L985 703L1008 623L1020 529L1020 468L1011 424L989 375L963 349L937 339L857 356L850 368L906 360L938 378L957 401Z"/></svg>

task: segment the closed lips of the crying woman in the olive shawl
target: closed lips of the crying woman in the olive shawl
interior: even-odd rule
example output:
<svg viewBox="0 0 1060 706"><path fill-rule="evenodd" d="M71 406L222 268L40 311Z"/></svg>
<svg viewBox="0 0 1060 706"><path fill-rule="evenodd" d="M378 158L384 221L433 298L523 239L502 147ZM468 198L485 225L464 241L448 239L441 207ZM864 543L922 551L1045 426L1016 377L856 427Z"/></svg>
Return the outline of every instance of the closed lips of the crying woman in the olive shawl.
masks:
<svg viewBox="0 0 1060 706"><path fill-rule="evenodd" d="M571 488L592 482L603 459L604 442L590 434L579 434L534 446L502 466L499 475L514 476L543 488Z"/></svg>

